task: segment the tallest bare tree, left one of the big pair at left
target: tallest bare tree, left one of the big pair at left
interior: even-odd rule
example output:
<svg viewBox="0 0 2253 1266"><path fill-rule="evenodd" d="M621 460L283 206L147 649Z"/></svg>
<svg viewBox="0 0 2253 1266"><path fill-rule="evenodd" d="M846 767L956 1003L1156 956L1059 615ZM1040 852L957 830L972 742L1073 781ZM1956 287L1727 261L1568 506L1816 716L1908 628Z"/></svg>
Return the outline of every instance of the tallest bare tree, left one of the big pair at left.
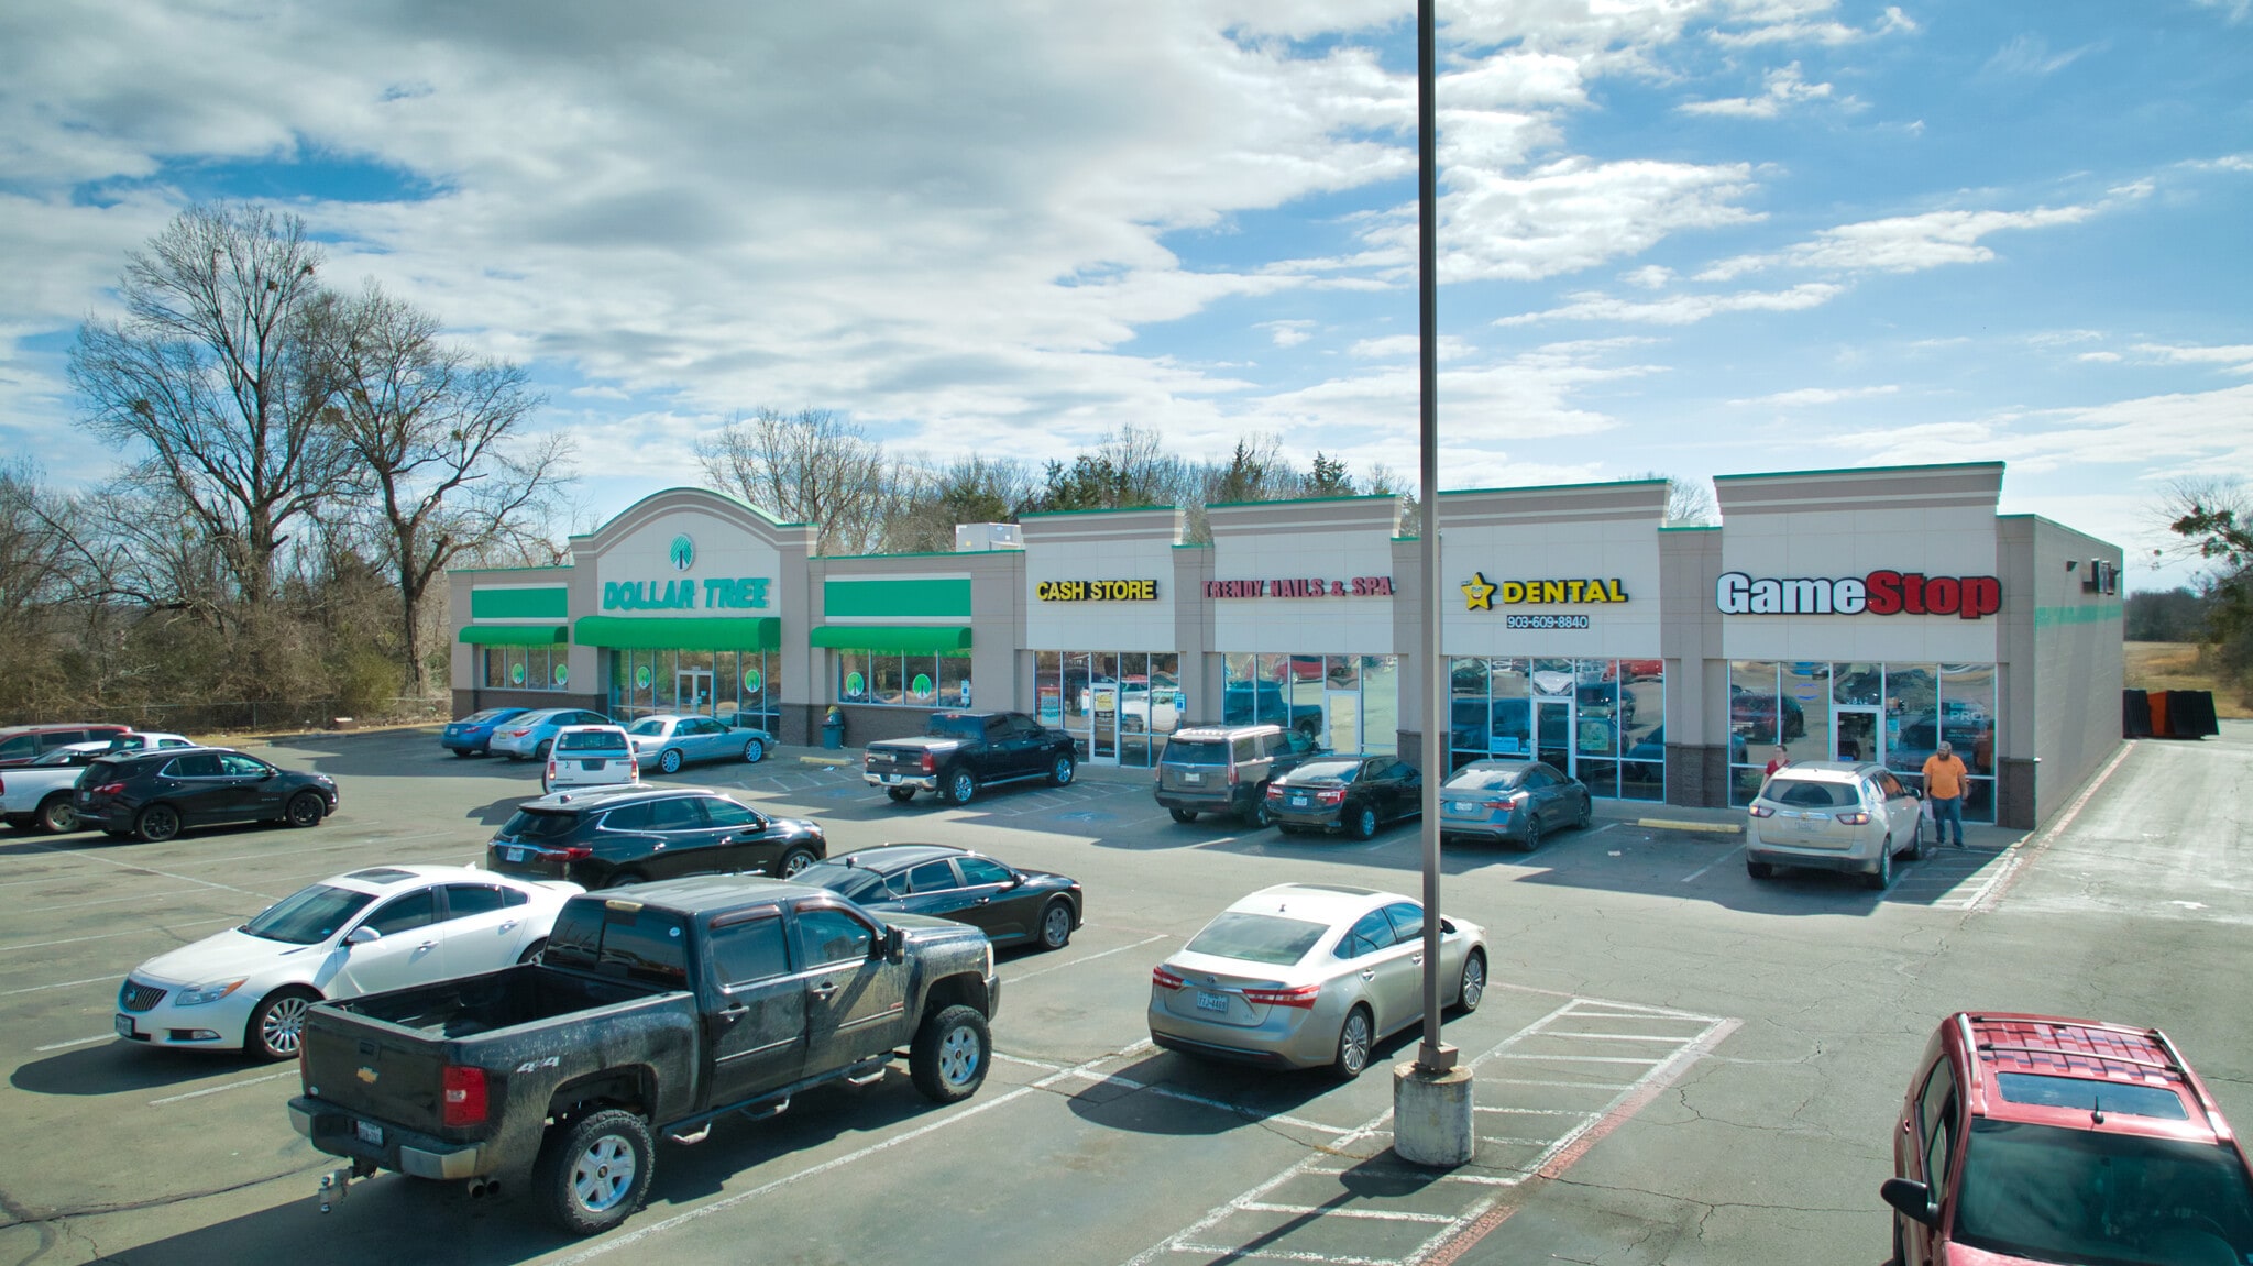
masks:
<svg viewBox="0 0 2253 1266"><path fill-rule="evenodd" d="M86 322L70 356L83 426L169 489L252 613L273 599L288 525L351 473L320 424L333 383L302 338L318 268L297 216L189 207L128 257L126 318Z"/></svg>

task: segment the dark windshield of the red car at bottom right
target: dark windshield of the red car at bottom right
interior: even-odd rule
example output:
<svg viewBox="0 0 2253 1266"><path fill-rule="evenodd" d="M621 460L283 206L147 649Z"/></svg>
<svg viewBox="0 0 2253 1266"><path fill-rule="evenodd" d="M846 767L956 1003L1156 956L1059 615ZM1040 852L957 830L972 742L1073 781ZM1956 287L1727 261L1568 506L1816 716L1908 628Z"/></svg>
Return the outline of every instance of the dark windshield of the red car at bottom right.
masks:
<svg viewBox="0 0 2253 1266"><path fill-rule="evenodd" d="M2089 1266L2246 1261L2253 1189L2224 1144L1980 1117L1956 1239Z"/></svg>

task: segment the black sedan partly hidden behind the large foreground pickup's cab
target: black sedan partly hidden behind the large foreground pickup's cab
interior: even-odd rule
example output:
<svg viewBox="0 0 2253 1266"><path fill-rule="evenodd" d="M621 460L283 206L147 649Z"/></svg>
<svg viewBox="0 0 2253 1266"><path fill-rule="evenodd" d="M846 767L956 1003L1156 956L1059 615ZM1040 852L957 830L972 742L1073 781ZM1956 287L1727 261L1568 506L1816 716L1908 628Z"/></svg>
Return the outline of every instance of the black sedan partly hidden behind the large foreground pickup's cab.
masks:
<svg viewBox="0 0 2253 1266"><path fill-rule="evenodd" d="M933 915L982 928L996 946L1063 948L1079 928L1079 881L1016 870L949 845L883 845L798 872L863 910Z"/></svg>

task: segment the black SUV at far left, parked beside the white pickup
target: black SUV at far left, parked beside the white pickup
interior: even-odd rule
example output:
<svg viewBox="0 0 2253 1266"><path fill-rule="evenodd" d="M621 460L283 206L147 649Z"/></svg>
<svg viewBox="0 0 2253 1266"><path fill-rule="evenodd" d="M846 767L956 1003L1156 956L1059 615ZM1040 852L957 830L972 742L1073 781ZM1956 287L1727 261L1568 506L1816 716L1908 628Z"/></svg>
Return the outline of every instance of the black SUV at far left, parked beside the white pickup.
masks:
<svg viewBox="0 0 2253 1266"><path fill-rule="evenodd" d="M149 842L169 840L180 827L257 820L318 827L336 813L333 777L275 768L234 748L117 752L86 766L77 786L79 822Z"/></svg>

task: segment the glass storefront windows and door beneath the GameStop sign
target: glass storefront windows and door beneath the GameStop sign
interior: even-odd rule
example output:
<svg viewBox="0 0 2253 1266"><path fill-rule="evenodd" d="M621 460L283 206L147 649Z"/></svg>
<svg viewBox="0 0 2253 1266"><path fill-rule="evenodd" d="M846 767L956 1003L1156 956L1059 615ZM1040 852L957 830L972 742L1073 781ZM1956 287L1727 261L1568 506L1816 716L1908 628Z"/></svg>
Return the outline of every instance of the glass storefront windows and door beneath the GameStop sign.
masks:
<svg viewBox="0 0 2253 1266"><path fill-rule="evenodd" d="M1994 665L1735 660L1728 667L1728 800L1751 804L1769 757L1884 761L1922 786L1940 741L1971 770L1965 820L1994 822Z"/></svg>

